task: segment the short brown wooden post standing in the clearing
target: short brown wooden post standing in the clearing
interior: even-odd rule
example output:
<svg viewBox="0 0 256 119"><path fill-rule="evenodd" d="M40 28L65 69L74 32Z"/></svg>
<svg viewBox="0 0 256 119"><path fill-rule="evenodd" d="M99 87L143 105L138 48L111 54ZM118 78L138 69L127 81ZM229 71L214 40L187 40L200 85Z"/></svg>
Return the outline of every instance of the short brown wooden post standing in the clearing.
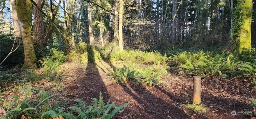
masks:
<svg viewBox="0 0 256 119"><path fill-rule="evenodd" d="M201 77L194 76L193 81L193 103L197 105L201 103Z"/></svg>

